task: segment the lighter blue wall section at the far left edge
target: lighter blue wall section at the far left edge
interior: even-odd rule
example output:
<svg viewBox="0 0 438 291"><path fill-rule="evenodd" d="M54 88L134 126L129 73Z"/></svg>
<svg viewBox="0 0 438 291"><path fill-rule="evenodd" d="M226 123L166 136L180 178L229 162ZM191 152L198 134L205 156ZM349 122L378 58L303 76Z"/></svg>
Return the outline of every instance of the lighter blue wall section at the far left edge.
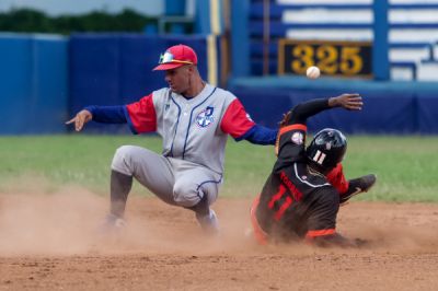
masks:
<svg viewBox="0 0 438 291"><path fill-rule="evenodd" d="M68 40L0 34L1 135L65 132Z"/></svg>

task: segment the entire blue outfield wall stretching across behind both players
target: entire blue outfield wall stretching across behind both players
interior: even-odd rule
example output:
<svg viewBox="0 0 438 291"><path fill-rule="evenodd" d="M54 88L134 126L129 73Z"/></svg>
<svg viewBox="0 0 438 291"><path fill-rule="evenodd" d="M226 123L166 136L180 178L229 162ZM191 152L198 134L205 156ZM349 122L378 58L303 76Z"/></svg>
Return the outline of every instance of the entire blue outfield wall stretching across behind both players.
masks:
<svg viewBox="0 0 438 291"><path fill-rule="evenodd" d="M220 60L210 67L211 49L203 36L0 34L0 135L67 132L64 123L87 105L126 104L165 86L164 74L151 70L160 53L178 43L197 50L206 80L211 69L219 70ZM232 79L229 89L255 121L269 127L298 102L357 92L366 102L361 113L324 113L311 120L311 130L331 126L354 133L438 133L436 83L268 77ZM92 125L85 132L128 129Z"/></svg>

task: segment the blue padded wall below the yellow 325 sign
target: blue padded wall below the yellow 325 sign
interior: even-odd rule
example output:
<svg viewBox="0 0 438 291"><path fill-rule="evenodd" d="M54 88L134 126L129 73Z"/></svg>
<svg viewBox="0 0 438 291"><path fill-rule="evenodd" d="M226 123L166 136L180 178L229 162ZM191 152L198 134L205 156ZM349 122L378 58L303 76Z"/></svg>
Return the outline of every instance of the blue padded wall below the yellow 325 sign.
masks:
<svg viewBox="0 0 438 291"><path fill-rule="evenodd" d="M233 80L230 89L252 118L268 127L276 127L283 114L300 102L359 93L365 102L361 112L327 110L312 117L309 129L333 127L348 133L438 133L438 84L434 83L245 78Z"/></svg>

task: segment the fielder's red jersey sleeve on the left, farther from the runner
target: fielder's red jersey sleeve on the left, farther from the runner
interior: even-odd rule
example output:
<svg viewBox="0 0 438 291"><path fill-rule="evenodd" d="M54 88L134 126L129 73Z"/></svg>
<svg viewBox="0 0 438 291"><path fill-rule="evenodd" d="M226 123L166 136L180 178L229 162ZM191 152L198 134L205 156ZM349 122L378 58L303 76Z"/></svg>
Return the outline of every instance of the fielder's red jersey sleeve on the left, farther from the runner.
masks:
<svg viewBox="0 0 438 291"><path fill-rule="evenodd" d="M157 130L157 114L153 107L152 94L140 101L126 105L128 123L136 133Z"/></svg>

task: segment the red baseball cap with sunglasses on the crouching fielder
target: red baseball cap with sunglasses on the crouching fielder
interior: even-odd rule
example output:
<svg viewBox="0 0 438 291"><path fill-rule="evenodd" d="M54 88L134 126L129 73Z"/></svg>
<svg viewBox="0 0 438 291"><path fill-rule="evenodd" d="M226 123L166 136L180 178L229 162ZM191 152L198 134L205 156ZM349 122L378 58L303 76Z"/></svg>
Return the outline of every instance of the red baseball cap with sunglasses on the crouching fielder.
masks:
<svg viewBox="0 0 438 291"><path fill-rule="evenodd" d="M192 47L185 45L172 46L161 54L159 66L153 71L171 70L184 65L197 65L198 57Z"/></svg>

